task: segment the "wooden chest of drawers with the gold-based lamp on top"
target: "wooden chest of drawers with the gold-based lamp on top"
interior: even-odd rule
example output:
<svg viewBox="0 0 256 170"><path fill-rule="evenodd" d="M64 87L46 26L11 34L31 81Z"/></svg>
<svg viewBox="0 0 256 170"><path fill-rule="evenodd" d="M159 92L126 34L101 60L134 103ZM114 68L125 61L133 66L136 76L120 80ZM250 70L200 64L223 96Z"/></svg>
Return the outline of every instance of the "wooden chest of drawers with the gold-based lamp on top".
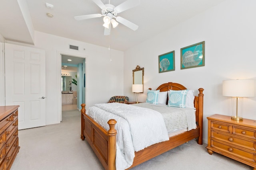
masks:
<svg viewBox="0 0 256 170"><path fill-rule="evenodd" d="M218 114L207 119L208 153L222 154L256 170L256 120L237 121Z"/></svg>

